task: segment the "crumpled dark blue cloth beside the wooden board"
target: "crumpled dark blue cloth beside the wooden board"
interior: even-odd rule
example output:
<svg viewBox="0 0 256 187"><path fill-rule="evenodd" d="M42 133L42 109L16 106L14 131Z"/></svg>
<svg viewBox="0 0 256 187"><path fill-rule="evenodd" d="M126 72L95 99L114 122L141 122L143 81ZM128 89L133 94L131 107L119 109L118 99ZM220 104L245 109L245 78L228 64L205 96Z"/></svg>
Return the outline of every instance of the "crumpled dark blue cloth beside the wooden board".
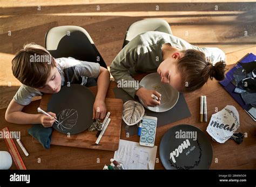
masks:
<svg viewBox="0 0 256 187"><path fill-rule="evenodd" d="M33 138L39 141L45 149L50 149L52 130L52 127L45 128L43 125L37 124L29 128L28 132Z"/></svg>

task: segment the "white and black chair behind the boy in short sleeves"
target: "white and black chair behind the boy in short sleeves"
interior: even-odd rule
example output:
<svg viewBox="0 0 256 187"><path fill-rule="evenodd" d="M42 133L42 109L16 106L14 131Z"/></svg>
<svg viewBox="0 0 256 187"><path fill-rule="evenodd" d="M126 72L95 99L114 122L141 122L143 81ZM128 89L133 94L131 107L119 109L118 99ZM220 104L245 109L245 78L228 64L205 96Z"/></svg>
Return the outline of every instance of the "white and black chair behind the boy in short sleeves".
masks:
<svg viewBox="0 0 256 187"><path fill-rule="evenodd" d="M45 48L55 58L73 57L77 60L97 62L107 68L87 31L79 26L58 26L45 34Z"/></svg>

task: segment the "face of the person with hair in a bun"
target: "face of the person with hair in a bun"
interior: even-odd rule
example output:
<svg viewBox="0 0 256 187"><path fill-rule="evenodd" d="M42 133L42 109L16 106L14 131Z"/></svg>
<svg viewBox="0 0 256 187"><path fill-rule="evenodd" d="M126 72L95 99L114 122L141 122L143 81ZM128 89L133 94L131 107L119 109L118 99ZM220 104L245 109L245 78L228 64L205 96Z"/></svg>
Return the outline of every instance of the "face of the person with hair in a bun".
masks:
<svg viewBox="0 0 256 187"><path fill-rule="evenodd" d="M160 63L157 73L161 77L161 82L169 83L174 89L181 90L181 74L177 69L178 60L183 57L182 53L175 52L170 57Z"/></svg>

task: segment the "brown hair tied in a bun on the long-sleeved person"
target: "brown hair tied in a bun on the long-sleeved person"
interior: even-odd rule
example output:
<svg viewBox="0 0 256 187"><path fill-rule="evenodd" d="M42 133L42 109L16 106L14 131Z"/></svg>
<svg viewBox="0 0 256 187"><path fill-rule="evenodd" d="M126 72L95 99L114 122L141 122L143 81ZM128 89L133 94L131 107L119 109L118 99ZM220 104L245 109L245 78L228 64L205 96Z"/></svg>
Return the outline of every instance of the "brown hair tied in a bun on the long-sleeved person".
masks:
<svg viewBox="0 0 256 187"><path fill-rule="evenodd" d="M191 92L200 89L208 81L208 78L222 81L225 78L226 63L219 61L213 66L206 59L205 54L198 50L187 49L182 51L184 57L178 60L177 67L180 71L183 87L180 91Z"/></svg>

